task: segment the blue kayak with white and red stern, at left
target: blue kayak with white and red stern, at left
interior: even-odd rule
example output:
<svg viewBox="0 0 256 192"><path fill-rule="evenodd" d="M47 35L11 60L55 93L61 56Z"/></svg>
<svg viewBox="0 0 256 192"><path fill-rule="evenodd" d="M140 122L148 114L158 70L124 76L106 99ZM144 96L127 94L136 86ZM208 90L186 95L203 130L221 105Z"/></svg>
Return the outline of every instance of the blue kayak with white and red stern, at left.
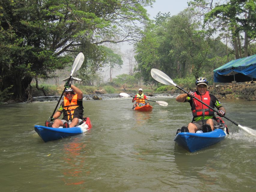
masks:
<svg viewBox="0 0 256 192"><path fill-rule="evenodd" d="M76 127L71 128L51 128L41 125L35 125L35 131L44 140L44 142L58 140L68 136L74 136L84 133L92 128L91 120L89 117L84 118L84 122Z"/></svg>

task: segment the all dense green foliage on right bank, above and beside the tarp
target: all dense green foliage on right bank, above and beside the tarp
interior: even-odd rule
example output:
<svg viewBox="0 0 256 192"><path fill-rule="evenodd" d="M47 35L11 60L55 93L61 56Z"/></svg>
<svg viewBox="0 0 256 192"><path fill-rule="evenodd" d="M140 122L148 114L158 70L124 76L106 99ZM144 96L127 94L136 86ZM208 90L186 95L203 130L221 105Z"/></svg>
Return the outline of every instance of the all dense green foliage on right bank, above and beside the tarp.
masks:
<svg viewBox="0 0 256 192"><path fill-rule="evenodd" d="M193 0L188 5L175 16L158 13L136 44L136 71L146 84L153 80L152 68L171 78L192 74L212 81L217 67L255 54L255 0Z"/></svg>

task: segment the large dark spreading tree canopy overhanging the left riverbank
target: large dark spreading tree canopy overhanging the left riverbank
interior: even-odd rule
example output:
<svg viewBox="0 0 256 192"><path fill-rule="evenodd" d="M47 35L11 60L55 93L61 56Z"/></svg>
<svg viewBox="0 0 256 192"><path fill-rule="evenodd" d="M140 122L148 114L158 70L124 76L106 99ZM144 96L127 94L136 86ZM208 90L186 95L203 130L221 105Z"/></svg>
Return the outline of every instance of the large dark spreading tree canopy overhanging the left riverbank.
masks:
<svg viewBox="0 0 256 192"><path fill-rule="evenodd" d="M83 52L85 61L102 61L98 45L134 43L145 6L155 0L5 0L0 2L0 88L13 85L26 97L33 78L49 77ZM73 56L73 58L72 58ZM84 62L85 67L86 62Z"/></svg>

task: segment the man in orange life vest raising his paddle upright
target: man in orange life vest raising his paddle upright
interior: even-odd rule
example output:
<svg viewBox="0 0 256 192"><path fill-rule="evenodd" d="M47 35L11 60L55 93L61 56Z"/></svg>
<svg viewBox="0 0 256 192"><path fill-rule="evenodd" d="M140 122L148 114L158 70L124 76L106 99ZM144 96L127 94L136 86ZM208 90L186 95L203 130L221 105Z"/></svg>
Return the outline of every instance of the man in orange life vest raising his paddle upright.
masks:
<svg viewBox="0 0 256 192"><path fill-rule="evenodd" d="M65 83L64 101L59 109L54 113L53 118L45 122L46 127L74 127L83 120L83 93L75 85ZM58 119L63 113L63 118ZM52 121L54 122L52 123Z"/></svg>

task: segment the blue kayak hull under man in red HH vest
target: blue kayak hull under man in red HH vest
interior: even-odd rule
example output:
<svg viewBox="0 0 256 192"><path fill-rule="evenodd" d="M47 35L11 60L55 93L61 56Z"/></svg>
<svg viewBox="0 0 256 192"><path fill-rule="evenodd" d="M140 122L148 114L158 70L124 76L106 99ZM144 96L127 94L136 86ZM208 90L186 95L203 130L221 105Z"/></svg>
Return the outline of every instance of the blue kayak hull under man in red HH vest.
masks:
<svg viewBox="0 0 256 192"><path fill-rule="evenodd" d="M174 141L189 152L195 152L224 140L226 133L222 129L215 129L209 133L179 133Z"/></svg>

